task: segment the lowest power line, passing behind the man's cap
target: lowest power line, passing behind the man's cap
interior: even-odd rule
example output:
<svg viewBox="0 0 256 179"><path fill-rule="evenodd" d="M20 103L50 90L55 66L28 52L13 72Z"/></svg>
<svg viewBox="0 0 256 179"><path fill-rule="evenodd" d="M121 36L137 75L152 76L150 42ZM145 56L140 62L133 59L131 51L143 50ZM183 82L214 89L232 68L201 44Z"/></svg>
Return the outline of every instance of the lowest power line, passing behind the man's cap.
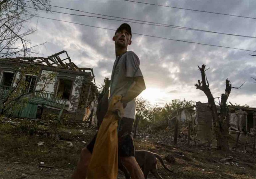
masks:
<svg viewBox="0 0 256 179"><path fill-rule="evenodd" d="M71 24L77 24L77 25L82 25L82 26L87 26L87 27L93 27L93 28L99 28L99 29L114 30L114 31L116 31L115 29L109 29L109 28L103 28L103 27L90 26L90 25L86 25L86 24L75 23L75 22L70 22L70 21L64 21L64 20L59 20L59 19L52 19L52 18L41 17L41 16L36 16L36 15L30 15L30 14L24 14L24 15L34 16L34 17L43 18L43 19L50 19L50 20L60 21L60 22L66 22L66 23L71 23ZM186 41L186 40L177 40L177 39L172 39L172 38L158 37L158 36L154 36L154 35L146 35L146 34L141 34L141 33L134 33L134 32L133 32L133 34L142 35L142 36L148 36L148 37L161 38L161 39L166 39L166 40L179 41L179 42L195 43L195 44L199 44L199 45L207 45L207 46L214 46L214 47L222 47L222 48L230 48L230 49L236 49L236 50L243 50L243 51L256 52L256 51L254 51L254 50L247 50L247 49L241 49L241 48L227 47L227 46L221 46L221 45L212 45L212 44L199 43L199 42L191 42L191 41Z"/></svg>

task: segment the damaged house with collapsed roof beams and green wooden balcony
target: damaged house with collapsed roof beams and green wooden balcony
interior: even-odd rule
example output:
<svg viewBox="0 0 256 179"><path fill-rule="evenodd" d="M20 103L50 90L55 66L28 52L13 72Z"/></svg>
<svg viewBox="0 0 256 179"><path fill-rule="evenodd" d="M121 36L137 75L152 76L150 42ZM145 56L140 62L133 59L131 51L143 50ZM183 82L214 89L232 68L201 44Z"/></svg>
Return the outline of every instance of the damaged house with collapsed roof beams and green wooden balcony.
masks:
<svg viewBox="0 0 256 179"><path fill-rule="evenodd" d="M1 106L17 86L21 76L17 68L37 66L38 75L23 74L26 82L25 93L20 101L27 100L22 109L12 109L12 116L37 118L43 114L67 113L71 120L82 121L89 117L97 105L98 91L92 68L79 68L66 51L49 57L17 57L0 59ZM42 80L47 74L54 73L50 82ZM45 86L44 86L45 85ZM40 88L44 86L43 90ZM22 90L22 91L24 91ZM19 93L16 92L16 93Z"/></svg>

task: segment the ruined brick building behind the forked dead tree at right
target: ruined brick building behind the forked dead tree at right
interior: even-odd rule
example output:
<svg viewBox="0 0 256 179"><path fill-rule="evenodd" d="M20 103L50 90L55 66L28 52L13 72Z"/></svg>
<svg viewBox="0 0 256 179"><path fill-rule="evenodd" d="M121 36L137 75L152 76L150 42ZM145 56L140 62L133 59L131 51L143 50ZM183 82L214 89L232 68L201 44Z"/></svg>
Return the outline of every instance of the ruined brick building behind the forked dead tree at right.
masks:
<svg viewBox="0 0 256 179"><path fill-rule="evenodd" d="M220 107L216 107L217 113L220 113ZM187 124L189 121L192 121L193 132L196 133L196 138L200 139L202 144L211 143L212 139L215 137L212 131L212 114L208 103L198 101L196 102L196 106L182 108L175 111L171 116L169 126L174 126L176 120L178 120L179 128L184 134L188 133ZM253 141L256 127L256 108L231 105L229 106L229 116L230 138L236 141L237 135L240 135L240 143ZM247 139L247 137L249 138Z"/></svg>

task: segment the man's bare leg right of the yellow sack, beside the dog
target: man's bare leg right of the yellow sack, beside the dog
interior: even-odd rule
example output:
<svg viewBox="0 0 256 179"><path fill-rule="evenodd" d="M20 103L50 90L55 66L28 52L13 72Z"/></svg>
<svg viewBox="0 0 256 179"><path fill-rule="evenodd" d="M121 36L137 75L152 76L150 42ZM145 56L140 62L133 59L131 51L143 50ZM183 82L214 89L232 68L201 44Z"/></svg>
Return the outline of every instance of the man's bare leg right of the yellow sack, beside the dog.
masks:
<svg viewBox="0 0 256 179"><path fill-rule="evenodd" d="M121 157L122 163L129 171L132 179L144 179L144 174L140 169L134 156Z"/></svg>

